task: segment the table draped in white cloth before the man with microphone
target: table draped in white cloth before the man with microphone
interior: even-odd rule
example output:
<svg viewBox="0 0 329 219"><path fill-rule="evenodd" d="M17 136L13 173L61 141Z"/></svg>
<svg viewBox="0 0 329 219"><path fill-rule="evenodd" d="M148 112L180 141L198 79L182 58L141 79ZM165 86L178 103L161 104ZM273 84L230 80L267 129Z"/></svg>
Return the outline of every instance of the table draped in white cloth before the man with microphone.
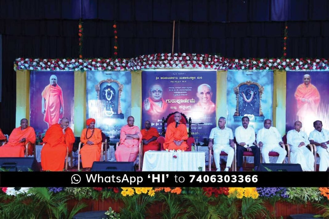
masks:
<svg viewBox="0 0 329 219"><path fill-rule="evenodd" d="M176 158L175 158L176 156ZM199 170L202 167L202 170ZM201 168L200 168L201 169ZM146 151L142 171L205 171L203 151Z"/></svg>

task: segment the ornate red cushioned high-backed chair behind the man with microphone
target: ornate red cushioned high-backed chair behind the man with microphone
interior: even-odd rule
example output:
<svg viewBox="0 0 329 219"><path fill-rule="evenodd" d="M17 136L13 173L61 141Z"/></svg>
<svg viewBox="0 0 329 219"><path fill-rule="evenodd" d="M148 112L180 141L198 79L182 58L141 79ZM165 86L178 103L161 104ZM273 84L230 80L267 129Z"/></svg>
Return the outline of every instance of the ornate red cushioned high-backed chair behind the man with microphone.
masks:
<svg viewBox="0 0 329 219"><path fill-rule="evenodd" d="M162 136L160 136L158 139L157 139L157 142L160 144L160 150L164 150L164 147L163 147L163 144L164 144L164 135L165 135L165 128L164 128L164 124L170 124L171 122L175 121L174 120L174 115L175 113L178 113L177 111L176 112L173 112L173 113L170 113L166 119L164 119L164 117L162 118ZM192 150L192 146L195 145L195 141L194 141L194 138L192 137L191 135L191 118L189 118L189 120L187 119L187 117L185 116L185 114L181 113L182 114L182 118L180 120L180 123L183 123L183 124L189 124L189 131L188 131L188 135L189 135L189 138L186 140L186 143L188 145L188 148L186 151L191 151Z"/></svg>

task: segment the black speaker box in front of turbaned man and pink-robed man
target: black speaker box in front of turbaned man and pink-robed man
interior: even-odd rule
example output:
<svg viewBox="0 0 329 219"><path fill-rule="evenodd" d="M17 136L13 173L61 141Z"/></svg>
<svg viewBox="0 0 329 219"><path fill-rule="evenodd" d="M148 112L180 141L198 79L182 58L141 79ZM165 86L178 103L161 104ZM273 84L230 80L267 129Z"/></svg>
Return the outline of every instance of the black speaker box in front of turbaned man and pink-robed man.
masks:
<svg viewBox="0 0 329 219"><path fill-rule="evenodd" d="M136 171L134 162L103 162L95 161L92 163L91 171L125 171L132 172Z"/></svg>

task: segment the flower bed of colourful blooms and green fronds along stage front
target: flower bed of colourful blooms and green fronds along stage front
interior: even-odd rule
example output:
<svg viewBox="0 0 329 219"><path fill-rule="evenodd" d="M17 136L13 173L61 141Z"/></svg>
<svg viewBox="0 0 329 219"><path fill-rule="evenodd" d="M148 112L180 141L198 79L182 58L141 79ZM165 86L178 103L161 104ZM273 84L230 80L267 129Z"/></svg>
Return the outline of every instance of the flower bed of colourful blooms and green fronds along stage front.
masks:
<svg viewBox="0 0 329 219"><path fill-rule="evenodd" d="M329 193L329 188L317 187L8 187L1 190L0 218L32 215L71 218L78 211L109 207L112 209L108 215L119 212L121 218L202 218L204 215L275 218L296 213L321 214L328 208Z"/></svg>

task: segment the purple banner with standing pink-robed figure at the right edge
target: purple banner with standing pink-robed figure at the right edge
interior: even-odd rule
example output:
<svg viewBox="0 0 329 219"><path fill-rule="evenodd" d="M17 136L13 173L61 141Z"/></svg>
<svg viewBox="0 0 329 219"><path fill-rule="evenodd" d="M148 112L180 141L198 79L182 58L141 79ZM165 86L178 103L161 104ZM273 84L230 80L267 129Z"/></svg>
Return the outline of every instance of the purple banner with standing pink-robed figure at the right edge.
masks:
<svg viewBox="0 0 329 219"><path fill-rule="evenodd" d="M302 130L310 134L313 122L321 120L329 128L329 72L288 71L286 99L286 132L294 122L302 122Z"/></svg>

